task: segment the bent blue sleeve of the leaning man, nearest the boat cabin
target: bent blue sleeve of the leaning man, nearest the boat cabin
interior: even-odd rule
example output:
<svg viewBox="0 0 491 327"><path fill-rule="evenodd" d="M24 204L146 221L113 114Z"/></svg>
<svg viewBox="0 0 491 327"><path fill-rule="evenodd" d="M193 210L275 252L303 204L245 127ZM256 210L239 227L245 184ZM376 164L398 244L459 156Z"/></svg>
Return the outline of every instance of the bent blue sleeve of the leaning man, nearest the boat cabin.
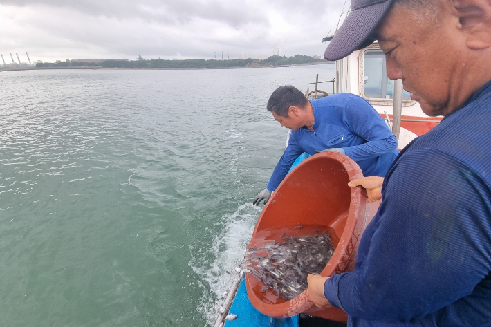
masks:
<svg viewBox="0 0 491 327"><path fill-rule="evenodd" d="M397 138L375 109L362 97L350 97L344 107L344 124L367 142L344 147L349 158L359 161L397 149Z"/></svg>

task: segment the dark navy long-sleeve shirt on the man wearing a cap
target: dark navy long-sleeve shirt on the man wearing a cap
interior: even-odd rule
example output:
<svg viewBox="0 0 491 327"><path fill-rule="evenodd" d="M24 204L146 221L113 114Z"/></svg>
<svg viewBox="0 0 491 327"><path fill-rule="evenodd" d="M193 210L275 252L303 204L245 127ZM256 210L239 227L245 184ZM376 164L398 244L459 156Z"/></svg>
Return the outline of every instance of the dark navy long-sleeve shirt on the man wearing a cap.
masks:
<svg viewBox="0 0 491 327"><path fill-rule="evenodd" d="M353 272L324 295L349 326L491 323L491 82L393 162Z"/></svg>

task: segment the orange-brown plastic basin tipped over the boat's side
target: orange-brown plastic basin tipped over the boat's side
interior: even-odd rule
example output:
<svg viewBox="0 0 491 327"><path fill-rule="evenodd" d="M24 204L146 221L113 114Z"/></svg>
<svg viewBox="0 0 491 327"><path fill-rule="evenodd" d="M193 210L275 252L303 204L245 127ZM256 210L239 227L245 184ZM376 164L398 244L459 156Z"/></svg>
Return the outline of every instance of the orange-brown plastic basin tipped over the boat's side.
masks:
<svg viewBox="0 0 491 327"><path fill-rule="evenodd" d="M307 158L273 193L259 216L249 247L281 241L285 231L287 237L313 234L314 228L321 226L328 230L336 246L321 276L353 270L362 233L380 205L367 205L362 187L348 186L350 180L362 177L360 167L341 153L318 153ZM291 228L298 225L303 227ZM317 308L307 290L285 301L271 290L261 292L263 284L251 274L246 274L246 287L254 308L270 317L292 317L304 312L335 321L347 320L339 308Z"/></svg>

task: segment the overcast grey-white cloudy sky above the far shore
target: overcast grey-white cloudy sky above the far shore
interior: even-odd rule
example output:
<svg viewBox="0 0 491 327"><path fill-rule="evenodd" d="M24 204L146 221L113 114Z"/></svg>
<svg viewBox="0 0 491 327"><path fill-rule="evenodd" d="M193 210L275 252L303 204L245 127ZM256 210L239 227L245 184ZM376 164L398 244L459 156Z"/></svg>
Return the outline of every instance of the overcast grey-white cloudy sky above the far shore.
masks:
<svg viewBox="0 0 491 327"><path fill-rule="evenodd" d="M347 1L346 11L351 1ZM56 59L322 55L342 0L0 0L0 53ZM342 19L344 19L344 16ZM16 59L17 61L17 59Z"/></svg>

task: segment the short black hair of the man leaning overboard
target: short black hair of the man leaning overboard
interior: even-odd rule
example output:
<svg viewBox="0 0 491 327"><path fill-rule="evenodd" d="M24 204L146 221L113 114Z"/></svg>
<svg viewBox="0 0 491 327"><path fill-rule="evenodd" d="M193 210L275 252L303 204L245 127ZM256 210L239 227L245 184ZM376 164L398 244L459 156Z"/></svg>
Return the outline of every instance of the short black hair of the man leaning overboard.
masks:
<svg viewBox="0 0 491 327"><path fill-rule="evenodd" d="M291 85L279 86L270 96L266 108L274 111L277 115L288 118L290 106L298 106L302 109L307 105L308 100L304 93Z"/></svg>

